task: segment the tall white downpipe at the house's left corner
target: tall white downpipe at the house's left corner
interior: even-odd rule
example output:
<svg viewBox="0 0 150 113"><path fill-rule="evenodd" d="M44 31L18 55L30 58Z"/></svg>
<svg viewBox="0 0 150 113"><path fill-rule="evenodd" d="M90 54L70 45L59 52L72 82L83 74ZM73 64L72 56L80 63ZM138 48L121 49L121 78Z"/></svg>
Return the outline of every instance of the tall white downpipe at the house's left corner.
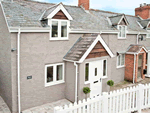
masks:
<svg viewBox="0 0 150 113"><path fill-rule="evenodd" d="M20 103L20 28L18 29L18 42L17 42L17 54L18 54L18 113L21 112L21 103Z"/></svg>

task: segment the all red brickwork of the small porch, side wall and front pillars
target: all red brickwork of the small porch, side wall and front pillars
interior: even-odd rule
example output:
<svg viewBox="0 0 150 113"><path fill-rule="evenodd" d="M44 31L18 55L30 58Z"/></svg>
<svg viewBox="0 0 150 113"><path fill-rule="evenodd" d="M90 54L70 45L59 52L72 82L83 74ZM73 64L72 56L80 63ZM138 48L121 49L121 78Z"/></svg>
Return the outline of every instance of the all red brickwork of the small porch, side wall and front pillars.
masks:
<svg viewBox="0 0 150 113"><path fill-rule="evenodd" d="M137 82L138 75L138 57L139 55L143 55L143 67L142 67L142 79L145 79L145 75L143 74L143 70L146 69L146 52L145 50L141 50L139 54L136 54L135 61L135 82ZM134 71L134 54L126 54L125 55L125 79L133 82L133 71Z"/></svg>

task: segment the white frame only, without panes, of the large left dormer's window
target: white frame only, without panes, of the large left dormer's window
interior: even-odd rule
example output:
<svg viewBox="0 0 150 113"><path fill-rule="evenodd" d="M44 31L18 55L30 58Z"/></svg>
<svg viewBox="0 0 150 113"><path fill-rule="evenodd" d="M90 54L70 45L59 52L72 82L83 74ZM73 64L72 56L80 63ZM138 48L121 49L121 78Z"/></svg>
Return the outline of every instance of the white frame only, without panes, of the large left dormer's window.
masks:
<svg viewBox="0 0 150 113"><path fill-rule="evenodd" d="M58 37L52 37L52 21L58 22ZM67 22L67 37L61 37L61 22ZM49 19L48 25L50 25L50 40L68 40L69 38L69 26L70 20L62 20L62 19Z"/></svg>

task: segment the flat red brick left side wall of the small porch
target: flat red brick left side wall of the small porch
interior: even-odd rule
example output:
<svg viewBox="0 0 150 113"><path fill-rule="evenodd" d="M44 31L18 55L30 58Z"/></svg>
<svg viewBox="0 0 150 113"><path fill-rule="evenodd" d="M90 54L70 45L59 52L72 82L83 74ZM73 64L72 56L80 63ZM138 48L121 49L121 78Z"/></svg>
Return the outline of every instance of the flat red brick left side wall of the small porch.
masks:
<svg viewBox="0 0 150 113"><path fill-rule="evenodd" d="M133 69L134 69L134 55L125 55L125 79L128 81L133 80Z"/></svg>

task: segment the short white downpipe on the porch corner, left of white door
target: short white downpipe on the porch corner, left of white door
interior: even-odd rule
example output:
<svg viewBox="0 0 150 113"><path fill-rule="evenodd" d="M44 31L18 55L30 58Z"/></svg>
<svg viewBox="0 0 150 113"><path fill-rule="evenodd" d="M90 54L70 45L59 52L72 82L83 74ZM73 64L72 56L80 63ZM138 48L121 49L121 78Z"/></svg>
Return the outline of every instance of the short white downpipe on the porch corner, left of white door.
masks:
<svg viewBox="0 0 150 113"><path fill-rule="evenodd" d="M75 81L75 102L78 101L78 64L74 62L74 66L76 67L76 81Z"/></svg>

